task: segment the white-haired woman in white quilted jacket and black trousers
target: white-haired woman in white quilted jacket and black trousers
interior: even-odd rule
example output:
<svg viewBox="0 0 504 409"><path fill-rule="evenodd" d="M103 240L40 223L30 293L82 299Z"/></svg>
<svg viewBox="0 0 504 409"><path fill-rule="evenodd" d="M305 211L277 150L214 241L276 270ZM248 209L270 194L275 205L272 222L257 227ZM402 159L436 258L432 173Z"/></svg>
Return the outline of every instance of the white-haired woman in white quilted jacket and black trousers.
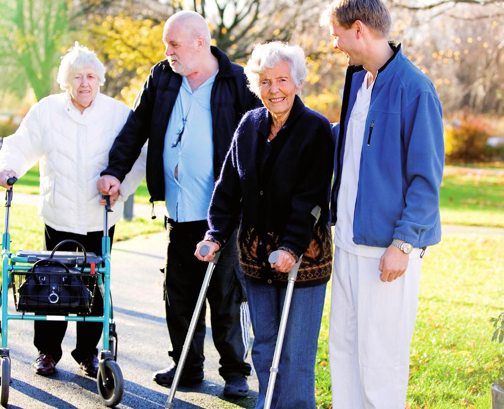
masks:
<svg viewBox="0 0 504 409"><path fill-rule="evenodd" d="M108 151L126 121L130 109L100 94L105 66L96 54L77 42L62 57L57 82L65 92L49 95L31 107L12 136L4 139L0 151L0 184L10 189L8 180L21 178L39 163L39 216L44 222L44 250L52 250L62 240L76 240L97 255L102 253L104 200L96 190ZM144 150L145 151L145 150ZM122 215L124 201L133 193L145 173L145 153L110 196L116 203L109 220L112 242L114 224ZM12 179L10 179L12 180ZM75 251L70 243L59 250ZM92 315L103 315L103 298L96 292ZM51 375L61 359L61 342L67 321L34 321L34 345L38 350L35 373ZM100 322L77 322L77 345L72 356L85 375L96 378L98 350L102 334Z"/></svg>

